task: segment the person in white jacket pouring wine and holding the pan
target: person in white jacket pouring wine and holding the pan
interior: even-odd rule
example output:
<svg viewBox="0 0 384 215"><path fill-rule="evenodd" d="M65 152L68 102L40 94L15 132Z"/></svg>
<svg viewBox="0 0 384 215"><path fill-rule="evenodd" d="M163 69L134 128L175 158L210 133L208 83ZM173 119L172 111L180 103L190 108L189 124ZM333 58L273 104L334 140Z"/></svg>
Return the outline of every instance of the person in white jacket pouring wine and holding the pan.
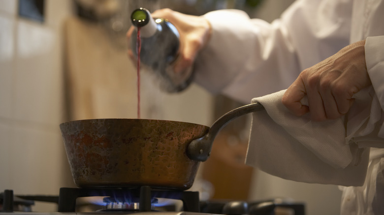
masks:
<svg viewBox="0 0 384 215"><path fill-rule="evenodd" d="M289 111L327 121L348 113L354 95L372 87L383 112L383 0L296 0L272 23L239 10L152 15L180 32L174 73L193 67L194 81L212 93L249 103L288 88L282 103ZM300 102L305 96L308 105ZM382 138L383 115L374 124ZM383 149L371 149L368 169L364 186L344 189L342 215L384 214Z"/></svg>

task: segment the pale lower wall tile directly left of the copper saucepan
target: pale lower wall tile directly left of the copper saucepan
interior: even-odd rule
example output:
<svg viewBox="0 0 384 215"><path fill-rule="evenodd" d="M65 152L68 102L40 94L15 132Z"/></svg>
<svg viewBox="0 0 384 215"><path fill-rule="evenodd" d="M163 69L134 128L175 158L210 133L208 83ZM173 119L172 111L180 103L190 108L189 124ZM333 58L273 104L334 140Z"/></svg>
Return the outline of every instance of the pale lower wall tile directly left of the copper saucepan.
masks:
<svg viewBox="0 0 384 215"><path fill-rule="evenodd" d="M20 194L58 194L64 146L59 132L15 126L9 146L11 185Z"/></svg>

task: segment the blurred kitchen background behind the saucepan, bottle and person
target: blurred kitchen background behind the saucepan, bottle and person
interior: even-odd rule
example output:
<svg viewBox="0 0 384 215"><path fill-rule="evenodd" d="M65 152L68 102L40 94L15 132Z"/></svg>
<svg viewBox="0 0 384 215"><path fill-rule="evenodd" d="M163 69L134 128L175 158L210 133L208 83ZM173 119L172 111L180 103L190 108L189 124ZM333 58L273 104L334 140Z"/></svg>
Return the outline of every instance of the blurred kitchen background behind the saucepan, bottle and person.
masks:
<svg viewBox="0 0 384 215"><path fill-rule="evenodd" d="M58 195L74 187L59 124L86 118L136 118L136 71L127 57L130 11L144 6L201 15L243 9L267 21L292 0L0 0L0 192ZM192 84L180 94L158 90L142 73L142 118L210 126L242 104ZM224 128L200 167L201 198L290 197L308 215L339 214L337 186L291 182L245 166L249 117ZM220 148L220 149L219 149ZM225 180L224 180L225 179ZM33 211L55 211L36 202Z"/></svg>

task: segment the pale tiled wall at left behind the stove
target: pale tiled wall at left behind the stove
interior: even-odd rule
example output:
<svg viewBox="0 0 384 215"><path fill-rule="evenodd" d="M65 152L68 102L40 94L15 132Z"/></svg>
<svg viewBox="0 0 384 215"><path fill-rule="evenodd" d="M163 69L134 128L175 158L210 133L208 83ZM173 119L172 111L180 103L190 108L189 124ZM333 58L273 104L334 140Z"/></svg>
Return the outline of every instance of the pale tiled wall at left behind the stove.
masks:
<svg viewBox="0 0 384 215"><path fill-rule="evenodd" d="M43 23L17 11L18 0L0 0L0 192L57 195L65 161L58 126L64 117L62 23L71 1L46 0Z"/></svg>

